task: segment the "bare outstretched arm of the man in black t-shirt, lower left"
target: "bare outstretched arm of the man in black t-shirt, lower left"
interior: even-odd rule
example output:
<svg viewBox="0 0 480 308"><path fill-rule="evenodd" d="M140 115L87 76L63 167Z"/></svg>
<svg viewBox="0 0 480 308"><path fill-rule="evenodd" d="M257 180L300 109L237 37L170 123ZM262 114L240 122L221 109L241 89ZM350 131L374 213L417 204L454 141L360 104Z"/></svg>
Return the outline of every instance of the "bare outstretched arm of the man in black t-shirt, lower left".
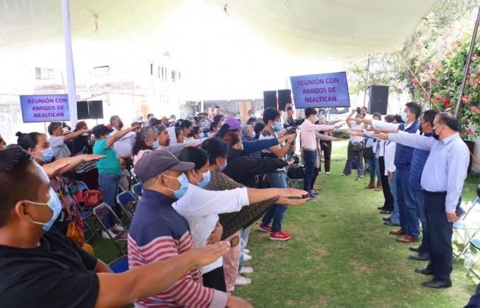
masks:
<svg viewBox="0 0 480 308"><path fill-rule="evenodd" d="M226 254L229 246L228 242L218 242L207 247L195 247L176 257L155 261L124 273L97 273L100 290L95 307L121 307L138 302L167 290L177 281L184 283L182 288L192 283L198 285L188 279L186 273L194 267L212 263Z"/></svg>

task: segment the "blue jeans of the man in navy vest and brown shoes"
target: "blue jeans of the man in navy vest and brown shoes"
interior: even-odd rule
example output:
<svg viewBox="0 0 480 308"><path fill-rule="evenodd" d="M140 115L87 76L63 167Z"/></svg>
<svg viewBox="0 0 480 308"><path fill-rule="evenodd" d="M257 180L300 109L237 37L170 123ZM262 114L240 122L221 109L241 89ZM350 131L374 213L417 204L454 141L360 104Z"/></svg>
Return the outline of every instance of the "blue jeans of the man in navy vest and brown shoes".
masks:
<svg viewBox="0 0 480 308"><path fill-rule="evenodd" d="M409 183L410 170L397 169L397 202L400 213L400 226L414 238L420 235L419 213L416 209L415 197Z"/></svg>

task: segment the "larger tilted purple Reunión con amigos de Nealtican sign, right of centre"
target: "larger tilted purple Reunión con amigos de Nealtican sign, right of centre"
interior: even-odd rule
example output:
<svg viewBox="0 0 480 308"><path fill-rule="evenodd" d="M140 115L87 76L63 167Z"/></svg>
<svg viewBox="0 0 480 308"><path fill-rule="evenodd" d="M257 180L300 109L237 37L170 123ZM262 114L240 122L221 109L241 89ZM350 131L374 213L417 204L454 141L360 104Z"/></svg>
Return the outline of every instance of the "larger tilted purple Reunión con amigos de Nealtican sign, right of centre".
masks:
<svg viewBox="0 0 480 308"><path fill-rule="evenodd" d="M347 73L291 76L295 108L349 107Z"/></svg>

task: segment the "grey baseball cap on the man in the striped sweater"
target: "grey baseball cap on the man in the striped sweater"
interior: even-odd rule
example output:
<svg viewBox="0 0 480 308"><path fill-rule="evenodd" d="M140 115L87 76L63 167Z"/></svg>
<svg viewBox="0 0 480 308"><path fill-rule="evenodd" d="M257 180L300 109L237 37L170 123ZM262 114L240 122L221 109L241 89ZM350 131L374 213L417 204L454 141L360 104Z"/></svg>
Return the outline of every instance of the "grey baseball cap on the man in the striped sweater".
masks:
<svg viewBox="0 0 480 308"><path fill-rule="evenodd" d="M188 171L195 168L195 164L179 161L172 153L164 150L146 152L135 164L135 174L141 182L167 170Z"/></svg>

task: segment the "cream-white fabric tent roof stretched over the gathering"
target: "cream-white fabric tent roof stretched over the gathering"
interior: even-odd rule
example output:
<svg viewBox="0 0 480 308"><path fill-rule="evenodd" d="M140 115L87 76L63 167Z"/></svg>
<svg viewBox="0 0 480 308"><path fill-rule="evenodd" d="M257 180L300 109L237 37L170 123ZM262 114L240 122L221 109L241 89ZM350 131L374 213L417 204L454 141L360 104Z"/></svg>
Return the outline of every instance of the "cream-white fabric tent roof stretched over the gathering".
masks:
<svg viewBox="0 0 480 308"><path fill-rule="evenodd" d="M200 9L195 23L210 18L205 12L222 15L217 27L235 20L288 54L345 60L400 49L435 4L436 0L71 0L70 8L74 39L150 37L159 33L158 27L169 27L164 20L172 14L188 24L191 12L182 12L196 6ZM0 49L59 40L61 1L2 0L0 23Z"/></svg>

